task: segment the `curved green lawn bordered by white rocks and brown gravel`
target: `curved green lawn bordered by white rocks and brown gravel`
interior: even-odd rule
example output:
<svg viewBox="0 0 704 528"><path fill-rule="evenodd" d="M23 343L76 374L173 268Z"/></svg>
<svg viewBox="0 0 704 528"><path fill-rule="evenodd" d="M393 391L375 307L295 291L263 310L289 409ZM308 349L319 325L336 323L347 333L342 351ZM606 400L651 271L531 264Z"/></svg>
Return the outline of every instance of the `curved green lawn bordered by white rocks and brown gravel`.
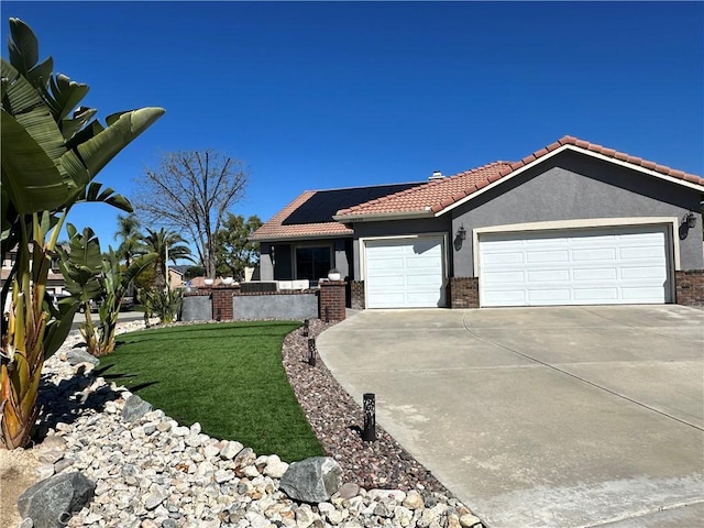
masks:
<svg viewBox="0 0 704 528"><path fill-rule="evenodd" d="M118 336L100 375L182 425L295 461L323 454L282 365L293 321L161 328Z"/></svg>

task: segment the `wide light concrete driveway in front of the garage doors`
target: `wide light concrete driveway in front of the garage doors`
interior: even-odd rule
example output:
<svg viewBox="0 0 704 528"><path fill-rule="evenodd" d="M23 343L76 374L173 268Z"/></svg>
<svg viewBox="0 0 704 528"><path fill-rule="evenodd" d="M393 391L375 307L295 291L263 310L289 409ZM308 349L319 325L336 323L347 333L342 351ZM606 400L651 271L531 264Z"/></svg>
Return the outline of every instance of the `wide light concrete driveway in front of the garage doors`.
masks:
<svg viewBox="0 0 704 528"><path fill-rule="evenodd" d="M703 526L702 310L365 310L317 344L488 527Z"/></svg>

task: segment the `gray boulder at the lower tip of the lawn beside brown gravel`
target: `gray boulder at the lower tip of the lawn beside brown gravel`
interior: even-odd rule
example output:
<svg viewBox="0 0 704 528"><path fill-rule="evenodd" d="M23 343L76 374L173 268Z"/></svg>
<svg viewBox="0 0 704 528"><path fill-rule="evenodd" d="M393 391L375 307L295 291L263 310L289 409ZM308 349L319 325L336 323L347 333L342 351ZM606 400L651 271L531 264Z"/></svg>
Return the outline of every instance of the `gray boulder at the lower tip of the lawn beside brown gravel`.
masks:
<svg viewBox="0 0 704 528"><path fill-rule="evenodd" d="M340 487L342 469L330 457L314 457L288 466L278 487L294 501L322 503Z"/></svg>

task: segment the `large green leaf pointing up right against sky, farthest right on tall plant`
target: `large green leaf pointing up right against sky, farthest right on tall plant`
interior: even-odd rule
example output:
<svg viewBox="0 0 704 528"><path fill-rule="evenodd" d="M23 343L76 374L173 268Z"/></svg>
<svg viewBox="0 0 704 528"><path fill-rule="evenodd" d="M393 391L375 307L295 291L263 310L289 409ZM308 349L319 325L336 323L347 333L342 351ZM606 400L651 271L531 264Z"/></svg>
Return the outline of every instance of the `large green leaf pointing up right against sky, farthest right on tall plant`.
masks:
<svg viewBox="0 0 704 528"><path fill-rule="evenodd" d="M105 167L138 135L148 129L166 110L147 107L123 113L110 127L78 145L78 153L91 175Z"/></svg>

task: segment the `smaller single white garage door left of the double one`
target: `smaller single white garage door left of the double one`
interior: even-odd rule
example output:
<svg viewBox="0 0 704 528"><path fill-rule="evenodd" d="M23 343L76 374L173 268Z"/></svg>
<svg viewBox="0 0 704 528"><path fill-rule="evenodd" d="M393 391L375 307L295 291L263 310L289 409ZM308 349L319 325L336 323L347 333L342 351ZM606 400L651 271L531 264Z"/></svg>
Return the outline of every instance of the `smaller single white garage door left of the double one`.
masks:
<svg viewBox="0 0 704 528"><path fill-rule="evenodd" d="M444 306L442 237L367 240L367 308Z"/></svg>

